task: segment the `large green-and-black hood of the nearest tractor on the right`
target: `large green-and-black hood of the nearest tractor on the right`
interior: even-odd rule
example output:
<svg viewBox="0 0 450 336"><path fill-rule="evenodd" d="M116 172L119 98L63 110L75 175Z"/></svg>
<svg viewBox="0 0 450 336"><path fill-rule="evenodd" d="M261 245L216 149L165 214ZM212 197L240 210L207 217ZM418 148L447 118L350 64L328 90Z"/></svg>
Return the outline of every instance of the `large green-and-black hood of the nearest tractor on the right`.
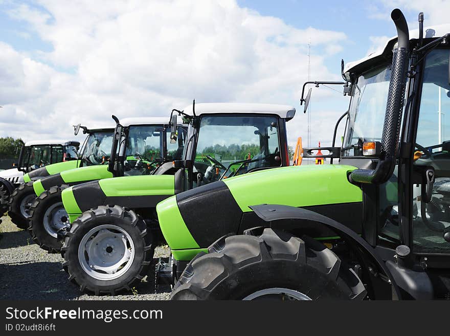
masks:
<svg viewBox="0 0 450 336"><path fill-rule="evenodd" d="M249 208L252 205L304 207L361 232L362 191L347 178L354 169L294 166L228 178L162 201L156 207L158 220L177 260L190 260L223 235L263 226Z"/></svg>

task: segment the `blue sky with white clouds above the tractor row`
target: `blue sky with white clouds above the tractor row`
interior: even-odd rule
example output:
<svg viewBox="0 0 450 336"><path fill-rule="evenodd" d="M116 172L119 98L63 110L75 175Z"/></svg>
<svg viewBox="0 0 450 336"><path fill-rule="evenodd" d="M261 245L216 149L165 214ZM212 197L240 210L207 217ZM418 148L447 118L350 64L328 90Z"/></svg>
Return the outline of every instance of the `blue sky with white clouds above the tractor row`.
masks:
<svg viewBox="0 0 450 336"><path fill-rule="evenodd" d="M169 116L195 99L292 105L288 142L306 146L308 74L342 80L341 59L395 35L396 7L415 29L419 11L425 26L447 23L450 1L0 0L0 137L72 139L71 125ZM331 145L340 92L314 88L310 146Z"/></svg>

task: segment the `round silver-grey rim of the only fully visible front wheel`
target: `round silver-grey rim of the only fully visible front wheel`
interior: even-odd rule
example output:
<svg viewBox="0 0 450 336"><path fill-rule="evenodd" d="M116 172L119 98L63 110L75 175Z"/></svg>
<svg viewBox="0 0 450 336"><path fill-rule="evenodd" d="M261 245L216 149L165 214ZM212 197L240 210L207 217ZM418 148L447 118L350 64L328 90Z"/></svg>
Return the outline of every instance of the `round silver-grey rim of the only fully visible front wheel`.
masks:
<svg viewBox="0 0 450 336"><path fill-rule="evenodd" d="M94 279L114 280L131 267L134 243L124 229L116 225L100 225L81 239L78 260L83 271Z"/></svg>

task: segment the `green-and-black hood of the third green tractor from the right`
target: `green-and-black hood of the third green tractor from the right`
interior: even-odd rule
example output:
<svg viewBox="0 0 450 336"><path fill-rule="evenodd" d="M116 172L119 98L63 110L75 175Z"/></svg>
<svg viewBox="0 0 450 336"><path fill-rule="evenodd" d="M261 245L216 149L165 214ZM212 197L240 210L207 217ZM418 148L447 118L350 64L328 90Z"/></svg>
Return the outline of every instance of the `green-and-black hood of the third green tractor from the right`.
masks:
<svg viewBox="0 0 450 336"><path fill-rule="evenodd" d="M113 177L113 174L108 171L107 165L85 166L64 170L47 177L42 177L33 182L33 189L36 196L39 196L45 190L49 190L53 186L60 186L63 184L73 186L83 182L101 180L102 178L109 177Z"/></svg>

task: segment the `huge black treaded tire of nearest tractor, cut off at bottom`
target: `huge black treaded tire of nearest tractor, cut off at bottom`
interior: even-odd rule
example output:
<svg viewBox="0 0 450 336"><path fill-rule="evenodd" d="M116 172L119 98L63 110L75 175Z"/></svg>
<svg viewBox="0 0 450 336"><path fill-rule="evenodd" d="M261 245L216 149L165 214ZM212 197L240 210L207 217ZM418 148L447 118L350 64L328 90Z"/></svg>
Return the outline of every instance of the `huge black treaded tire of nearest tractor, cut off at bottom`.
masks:
<svg viewBox="0 0 450 336"><path fill-rule="evenodd" d="M222 237L208 254L198 254L173 288L171 300L362 300L366 296L353 270L321 242L280 230L261 231Z"/></svg>

